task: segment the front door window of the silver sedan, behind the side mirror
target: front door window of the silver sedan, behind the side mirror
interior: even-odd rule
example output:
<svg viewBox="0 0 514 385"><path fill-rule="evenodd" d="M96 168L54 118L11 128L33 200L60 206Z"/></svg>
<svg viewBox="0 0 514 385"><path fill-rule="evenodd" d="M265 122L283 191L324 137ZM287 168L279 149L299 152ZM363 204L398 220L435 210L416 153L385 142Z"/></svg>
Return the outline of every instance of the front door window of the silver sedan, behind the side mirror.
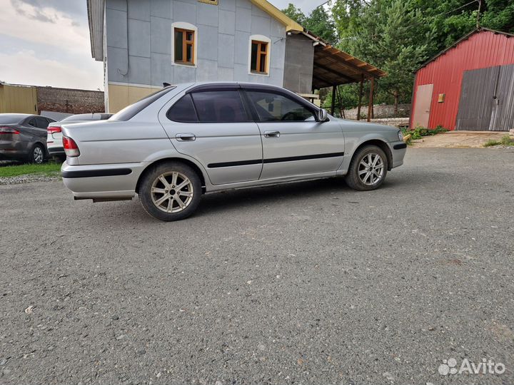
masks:
<svg viewBox="0 0 514 385"><path fill-rule="evenodd" d="M246 91L263 122L316 120L313 111L287 96L270 91Z"/></svg>

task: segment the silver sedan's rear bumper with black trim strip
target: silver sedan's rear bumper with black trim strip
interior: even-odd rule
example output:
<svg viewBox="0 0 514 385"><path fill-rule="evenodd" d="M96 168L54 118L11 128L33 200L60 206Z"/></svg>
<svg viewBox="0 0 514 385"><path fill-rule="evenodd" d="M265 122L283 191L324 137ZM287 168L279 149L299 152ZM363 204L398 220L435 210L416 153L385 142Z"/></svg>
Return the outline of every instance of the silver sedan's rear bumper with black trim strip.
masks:
<svg viewBox="0 0 514 385"><path fill-rule="evenodd" d="M69 165L65 162L61 175L76 199L131 198L136 194L136 185L145 167L145 163Z"/></svg>

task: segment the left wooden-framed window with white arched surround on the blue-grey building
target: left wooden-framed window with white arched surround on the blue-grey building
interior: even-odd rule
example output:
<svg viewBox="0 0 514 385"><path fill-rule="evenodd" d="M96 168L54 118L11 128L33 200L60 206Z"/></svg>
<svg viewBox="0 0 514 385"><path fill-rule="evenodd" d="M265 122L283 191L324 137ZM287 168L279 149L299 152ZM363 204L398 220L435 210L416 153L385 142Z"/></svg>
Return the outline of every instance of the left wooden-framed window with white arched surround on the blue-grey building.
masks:
<svg viewBox="0 0 514 385"><path fill-rule="evenodd" d="M198 29L193 24L178 21L171 24L173 39L171 60L182 66L196 66L196 43Z"/></svg>

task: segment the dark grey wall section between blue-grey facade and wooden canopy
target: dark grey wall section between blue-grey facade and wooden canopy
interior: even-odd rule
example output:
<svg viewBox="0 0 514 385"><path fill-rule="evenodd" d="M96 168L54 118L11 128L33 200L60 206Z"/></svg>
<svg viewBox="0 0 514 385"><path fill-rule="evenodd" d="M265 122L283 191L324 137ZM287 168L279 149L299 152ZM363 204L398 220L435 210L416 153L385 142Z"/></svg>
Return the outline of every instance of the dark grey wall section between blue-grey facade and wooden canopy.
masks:
<svg viewBox="0 0 514 385"><path fill-rule="evenodd" d="M288 36L283 86L298 93L312 92L313 41L301 34Z"/></svg>

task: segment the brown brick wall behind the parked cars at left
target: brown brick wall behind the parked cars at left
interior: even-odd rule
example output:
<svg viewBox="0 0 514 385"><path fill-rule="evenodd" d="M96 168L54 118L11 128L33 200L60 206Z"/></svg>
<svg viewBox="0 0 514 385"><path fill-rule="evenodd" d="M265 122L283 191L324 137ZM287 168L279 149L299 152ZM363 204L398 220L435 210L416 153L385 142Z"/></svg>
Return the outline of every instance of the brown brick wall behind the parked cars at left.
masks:
<svg viewBox="0 0 514 385"><path fill-rule="evenodd" d="M102 91L36 87L39 111L99 113L105 111Z"/></svg>

